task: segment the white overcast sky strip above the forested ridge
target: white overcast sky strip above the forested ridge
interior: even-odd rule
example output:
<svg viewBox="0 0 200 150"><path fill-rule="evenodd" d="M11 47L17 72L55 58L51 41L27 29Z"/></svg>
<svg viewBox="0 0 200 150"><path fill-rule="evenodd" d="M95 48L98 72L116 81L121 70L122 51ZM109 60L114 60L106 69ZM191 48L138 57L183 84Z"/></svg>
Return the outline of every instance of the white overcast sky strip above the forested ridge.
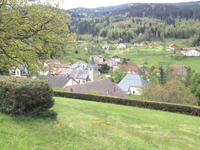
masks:
<svg viewBox="0 0 200 150"><path fill-rule="evenodd" d="M180 3L189 0L64 0L62 8L70 9L77 7L95 8L101 6L117 6L126 3Z"/></svg>

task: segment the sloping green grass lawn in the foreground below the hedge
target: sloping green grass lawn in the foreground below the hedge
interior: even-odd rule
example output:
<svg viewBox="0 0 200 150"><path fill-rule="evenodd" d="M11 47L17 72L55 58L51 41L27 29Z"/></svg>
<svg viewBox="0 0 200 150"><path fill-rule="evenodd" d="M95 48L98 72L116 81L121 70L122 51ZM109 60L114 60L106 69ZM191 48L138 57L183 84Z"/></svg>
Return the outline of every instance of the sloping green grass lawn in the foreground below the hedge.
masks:
<svg viewBox="0 0 200 150"><path fill-rule="evenodd" d="M200 147L200 118L55 97L57 120L0 113L0 149L180 149Z"/></svg>

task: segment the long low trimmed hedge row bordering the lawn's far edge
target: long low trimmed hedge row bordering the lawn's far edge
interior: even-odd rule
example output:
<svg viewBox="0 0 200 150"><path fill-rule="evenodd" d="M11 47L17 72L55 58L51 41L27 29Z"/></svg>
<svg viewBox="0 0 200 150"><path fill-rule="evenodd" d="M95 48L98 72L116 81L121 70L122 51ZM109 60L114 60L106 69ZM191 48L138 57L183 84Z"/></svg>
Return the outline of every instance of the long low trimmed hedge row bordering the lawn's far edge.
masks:
<svg viewBox="0 0 200 150"><path fill-rule="evenodd" d="M59 92L59 91L54 91L54 96L74 98L74 99L80 99L80 100L88 100L88 101L96 101L96 102L104 102L104 103L113 103L113 104L120 104L120 105L126 105L126 106L134 106L134 107L140 107L140 108L148 108L148 109L155 109L155 110L200 116L200 107L193 107L193 106L186 106L186 105L179 105L179 104L172 104L172 103L133 100L133 99L118 98L118 97L89 95L89 94L74 93L74 92Z"/></svg>

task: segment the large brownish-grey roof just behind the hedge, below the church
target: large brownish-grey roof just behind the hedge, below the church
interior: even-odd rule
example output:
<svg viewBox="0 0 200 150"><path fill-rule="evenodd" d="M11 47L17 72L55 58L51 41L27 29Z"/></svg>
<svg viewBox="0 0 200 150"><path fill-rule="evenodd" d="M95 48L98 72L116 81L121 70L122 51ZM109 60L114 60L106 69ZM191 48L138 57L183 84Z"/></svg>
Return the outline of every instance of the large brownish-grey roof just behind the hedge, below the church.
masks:
<svg viewBox="0 0 200 150"><path fill-rule="evenodd" d="M78 92L78 93L86 93L87 91L96 91L100 95L109 94L109 96L117 96L117 97L127 96L127 94L123 90L121 90L115 83L113 83L108 78L87 82L85 84L71 85L68 86L68 88L72 89L73 92Z"/></svg>

